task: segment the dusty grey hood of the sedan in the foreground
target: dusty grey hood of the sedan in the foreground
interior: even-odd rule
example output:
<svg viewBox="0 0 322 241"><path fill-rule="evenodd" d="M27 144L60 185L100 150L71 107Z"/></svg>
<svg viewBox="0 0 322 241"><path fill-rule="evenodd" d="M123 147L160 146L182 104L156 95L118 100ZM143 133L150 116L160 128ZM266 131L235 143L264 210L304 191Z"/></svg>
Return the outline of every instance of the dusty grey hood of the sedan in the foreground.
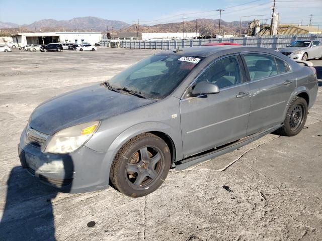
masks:
<svg viewBox="0 0 322 241"><path fill-rule="evenodd" d="M155 102L117 93L96 84L56 96L35 108L29 119L33 129L53 135L67 127L100 121Z"/></svg>

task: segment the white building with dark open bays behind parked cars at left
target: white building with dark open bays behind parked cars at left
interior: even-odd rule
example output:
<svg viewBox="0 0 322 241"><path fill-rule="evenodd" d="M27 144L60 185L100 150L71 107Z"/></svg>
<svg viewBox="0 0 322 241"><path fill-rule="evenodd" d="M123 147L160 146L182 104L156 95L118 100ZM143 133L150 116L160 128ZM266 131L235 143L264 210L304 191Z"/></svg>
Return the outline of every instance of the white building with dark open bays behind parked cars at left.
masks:
<svg viewBox="0 0 322 241"><path fill-rule="evenodd" d="M51 33L19 33L13 36L13 42L19 46L28 44L50 44L50 43L90 43L101 41L101 33L93 32L51 32Z"/></svg>

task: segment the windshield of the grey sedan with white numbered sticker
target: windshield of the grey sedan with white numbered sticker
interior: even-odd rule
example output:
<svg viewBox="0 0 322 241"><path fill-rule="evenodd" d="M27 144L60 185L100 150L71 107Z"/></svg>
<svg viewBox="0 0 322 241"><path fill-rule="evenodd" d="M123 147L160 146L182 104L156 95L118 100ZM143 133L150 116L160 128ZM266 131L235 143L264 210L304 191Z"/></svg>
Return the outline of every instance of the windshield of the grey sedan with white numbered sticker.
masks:
<svg viewBox="0 0 322 241"><path fill-rule="evenodd" d="M152 55L109 80L113 88L139 91L146 98L163 99L184 80L202 59L172 55Z"/></svg>

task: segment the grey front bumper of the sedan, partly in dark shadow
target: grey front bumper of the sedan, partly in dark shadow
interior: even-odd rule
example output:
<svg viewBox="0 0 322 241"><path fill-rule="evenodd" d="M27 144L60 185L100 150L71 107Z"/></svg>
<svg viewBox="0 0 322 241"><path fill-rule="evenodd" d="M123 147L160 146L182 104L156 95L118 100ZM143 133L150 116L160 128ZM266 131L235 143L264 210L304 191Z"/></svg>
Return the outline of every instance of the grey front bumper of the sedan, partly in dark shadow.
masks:
<svg viewBox="0 0 322 241"><path fill-rule="evenodd" d="M106 153L81 147L69 154L44 153L39 147L25 143L24 129L18 152L20 162L32 176L61 192L80 193L108 187L109 172L104 160Z"/></svg>

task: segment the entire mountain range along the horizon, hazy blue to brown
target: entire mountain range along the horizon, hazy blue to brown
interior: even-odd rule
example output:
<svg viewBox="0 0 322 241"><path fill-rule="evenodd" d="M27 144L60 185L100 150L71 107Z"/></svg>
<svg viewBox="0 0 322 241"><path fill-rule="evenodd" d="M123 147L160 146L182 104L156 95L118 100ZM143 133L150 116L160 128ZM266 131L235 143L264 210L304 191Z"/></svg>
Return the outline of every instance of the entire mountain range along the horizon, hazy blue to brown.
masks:
<svg viewBox="0 0 322 241"><path fill-rule="evenodd" d="M245 29L248 22L242 22L241 27ZM235 34L239 32L240 23L225 22L221 20L221 31L226 34ZM147 25L129 25L122 21L106 20L96 17L73 18L70 20L45 19L36 21L29 25L18 25L14 23L0 22L1 35L16 34L18 32L58 32L58 31L79 31L79 32L143 32L143 33L165 33L165 32L183 32L183 22ZM218 33L218 19L197 19L185 22L185 32L200 32L201 34ZM221 32L221 33L222 33Z"/></svg>

